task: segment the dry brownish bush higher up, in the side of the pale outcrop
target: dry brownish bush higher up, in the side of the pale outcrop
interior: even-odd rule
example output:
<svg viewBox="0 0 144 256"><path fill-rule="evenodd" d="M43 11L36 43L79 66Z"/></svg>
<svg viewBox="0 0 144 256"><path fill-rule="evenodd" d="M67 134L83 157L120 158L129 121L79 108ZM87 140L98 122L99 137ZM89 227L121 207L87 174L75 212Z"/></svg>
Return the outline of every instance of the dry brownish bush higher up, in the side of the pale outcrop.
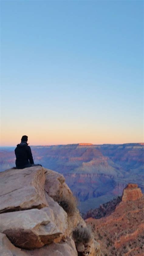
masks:
<svg viewBox="0 0 144 256"><path fill-rule="evenodd" d="M67 212L68 216L71 216L74 214L74 212L76 212L77 201L73 196L67 198L64 195L58 195L54 197L54 200L63 208L65 212Z"/></svg>

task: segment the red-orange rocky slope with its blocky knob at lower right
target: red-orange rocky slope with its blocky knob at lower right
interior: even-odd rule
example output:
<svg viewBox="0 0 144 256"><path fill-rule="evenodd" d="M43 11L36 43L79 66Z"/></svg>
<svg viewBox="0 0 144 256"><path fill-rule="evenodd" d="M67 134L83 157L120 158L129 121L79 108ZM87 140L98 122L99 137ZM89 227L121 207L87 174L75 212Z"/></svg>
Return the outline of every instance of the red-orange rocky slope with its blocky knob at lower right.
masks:
<svg viewBox="0 0 144 256"><path fill-rule="evenodd" d="M131 199L120 202L111 215L85 221L100 243L102 255L144 256L144 197L136 184L128 184L123 194Z"/></svg>

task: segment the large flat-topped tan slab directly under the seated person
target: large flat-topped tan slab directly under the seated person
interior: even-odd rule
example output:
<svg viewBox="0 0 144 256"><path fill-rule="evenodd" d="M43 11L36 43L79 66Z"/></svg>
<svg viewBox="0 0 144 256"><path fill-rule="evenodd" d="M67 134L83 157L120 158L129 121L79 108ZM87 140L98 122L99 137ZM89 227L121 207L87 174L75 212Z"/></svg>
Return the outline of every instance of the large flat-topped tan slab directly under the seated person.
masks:
<svg viewBox="0 0 144 256"><path fill-rule="evenodd" d="M0 212L47 206L43 167L6 170L0 173L0 183Z"/></svg>

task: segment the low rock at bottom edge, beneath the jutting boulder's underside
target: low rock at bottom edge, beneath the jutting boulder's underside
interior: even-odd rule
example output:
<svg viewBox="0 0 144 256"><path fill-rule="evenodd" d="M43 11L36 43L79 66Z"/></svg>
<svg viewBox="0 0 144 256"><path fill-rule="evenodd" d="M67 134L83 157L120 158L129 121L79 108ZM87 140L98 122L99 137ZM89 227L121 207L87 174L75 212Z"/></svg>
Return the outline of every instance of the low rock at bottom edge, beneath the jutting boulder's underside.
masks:
<svg viewBox="0 0 144 256"><path fill-rule="evenodd" d="M43 248L25 252L28 256L77 256L74 240L69 237L66 237L66 241L61 241L59 244L52 243Z"/></svg>

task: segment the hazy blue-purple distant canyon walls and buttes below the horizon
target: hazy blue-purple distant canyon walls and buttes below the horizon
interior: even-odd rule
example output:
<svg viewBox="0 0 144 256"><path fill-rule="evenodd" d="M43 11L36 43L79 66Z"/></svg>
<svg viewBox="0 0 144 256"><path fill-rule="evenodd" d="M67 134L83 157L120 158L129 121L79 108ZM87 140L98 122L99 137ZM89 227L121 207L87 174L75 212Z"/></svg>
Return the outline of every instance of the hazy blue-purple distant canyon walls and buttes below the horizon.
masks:
<svg viewBox="0 0 144 256"><path fill-rule="evenodd" d="M34 162L63 174L80 212L122 196L128 183L144 192L144 143L31 146ZM15 166L14 148L0 149L0 170Z"/></svg>

